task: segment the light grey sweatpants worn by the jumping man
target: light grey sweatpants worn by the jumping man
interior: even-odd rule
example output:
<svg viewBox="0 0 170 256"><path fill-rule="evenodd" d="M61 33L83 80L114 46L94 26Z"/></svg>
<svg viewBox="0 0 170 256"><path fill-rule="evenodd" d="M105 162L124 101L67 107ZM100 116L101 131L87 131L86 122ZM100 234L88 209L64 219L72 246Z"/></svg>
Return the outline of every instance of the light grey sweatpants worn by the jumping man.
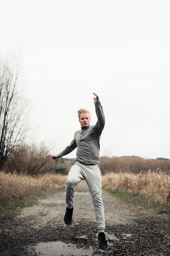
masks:
<svg viewBox="0 0 170 256"><path fill-rule="evenodd" d="M97 229L104 232L104 205L102 201L102 177L98 164L83 165L75 163L66 180L66 204L68 208L73 207L74 189L78 182L86 180L95 207Z"/></svg>

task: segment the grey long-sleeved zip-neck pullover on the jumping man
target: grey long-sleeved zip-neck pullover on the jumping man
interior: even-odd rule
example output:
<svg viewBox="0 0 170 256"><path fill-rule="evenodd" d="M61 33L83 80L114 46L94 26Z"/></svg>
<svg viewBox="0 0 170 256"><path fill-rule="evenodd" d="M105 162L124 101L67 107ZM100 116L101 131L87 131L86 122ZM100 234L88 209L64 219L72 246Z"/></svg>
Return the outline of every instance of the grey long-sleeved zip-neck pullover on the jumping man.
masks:
<svg viewBox="0 0 170 256"><path fill-rule="evenodd" d="M94 101L97 123L88 127L81 127L74 135L73 141L57 156L60 158L71 153L76 147L76 162L80 164L99 164L100 136L104 129L105 118L102 105L97 97Z"/></svg>

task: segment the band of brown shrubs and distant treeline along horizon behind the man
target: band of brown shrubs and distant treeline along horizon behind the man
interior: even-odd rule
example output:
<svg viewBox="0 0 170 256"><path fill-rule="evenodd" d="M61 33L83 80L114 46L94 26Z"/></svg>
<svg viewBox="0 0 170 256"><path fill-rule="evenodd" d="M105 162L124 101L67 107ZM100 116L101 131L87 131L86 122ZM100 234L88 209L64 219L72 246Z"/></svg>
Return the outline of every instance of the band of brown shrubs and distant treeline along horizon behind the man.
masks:
<svg viewBox="0 0 170 256"><path fill-rule="evenodd" d="M39 173L61 173L67 175L75 159L61 157L56 161L50 159L45 146L37 148L35 145L22 145L12 151L2 171L5 173L18 173L37 176ZM170 171L170 159L143 159L136 156L100 157L102 174L140 173L147 171Z"/></svg>

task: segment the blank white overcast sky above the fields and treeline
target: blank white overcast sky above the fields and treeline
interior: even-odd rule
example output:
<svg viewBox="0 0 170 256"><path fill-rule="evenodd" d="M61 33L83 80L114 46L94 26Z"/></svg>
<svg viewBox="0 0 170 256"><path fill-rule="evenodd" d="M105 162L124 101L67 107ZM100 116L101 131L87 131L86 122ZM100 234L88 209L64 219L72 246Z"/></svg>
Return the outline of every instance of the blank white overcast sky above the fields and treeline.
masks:
<svg viewBox="0 0 170 256"><path fill-rule="evenodd" d="M170 1L0 0L0 53L11 50L22 52L32 142L63 150L79 108L97 121L96 92L101 156L170 158Z"/></svg>

